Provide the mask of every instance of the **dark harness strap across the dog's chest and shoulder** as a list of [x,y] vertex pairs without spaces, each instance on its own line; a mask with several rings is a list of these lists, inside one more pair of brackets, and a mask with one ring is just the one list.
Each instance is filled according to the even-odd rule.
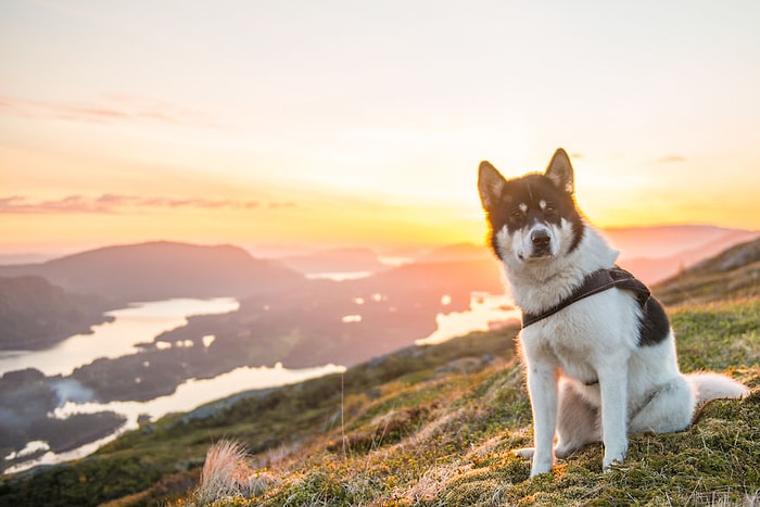
[[581,301],[590,295],[598,294],[599,292],[612,289],[613,287],[633,292],[636,295],[636,300],[638,300],[638,304],[642,306],[642,308],[651,295],[649,289],[625,269],[618,266],[610,269],[599,269],[585,277],[583,279],[583,283],[578,286],[569,296],[550,308],[545,309],[540,314],[531,314],[523,310],[522,327],[527,328],[531,324],[545,319],[566,306],[570,306],[577,301]]

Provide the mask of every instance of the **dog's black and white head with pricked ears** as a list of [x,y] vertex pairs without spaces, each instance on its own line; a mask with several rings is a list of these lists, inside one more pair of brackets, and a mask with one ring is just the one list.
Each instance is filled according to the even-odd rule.
[[481,162],[478,189],[491,226],[491,245],[505,263],[541,263],[578,246],[583,223],[573,200],[572,165],[561,148],[544,174],[514,179]]

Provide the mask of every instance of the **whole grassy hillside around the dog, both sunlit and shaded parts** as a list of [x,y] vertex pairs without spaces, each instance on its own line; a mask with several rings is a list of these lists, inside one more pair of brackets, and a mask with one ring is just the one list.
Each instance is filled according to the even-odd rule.
[[531,444],[531,415],[508,329],[410,347],[343,376],[243,397],[211,417],[166,417],[89,458],[3,479],[0,504],[190,505],[205,452],[224,439],[249,449],[248,482],[216,505],[757,502],[760,299],[671,316],[684,371],[725,371],[752,394],[708,404],[686,431],[632,435],[610,473],[593,445],[528,479],[529,464],[511,454]]

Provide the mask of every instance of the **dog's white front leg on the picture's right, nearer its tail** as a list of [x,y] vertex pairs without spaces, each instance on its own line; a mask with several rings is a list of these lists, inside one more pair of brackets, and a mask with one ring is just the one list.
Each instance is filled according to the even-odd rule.
[[615,462],[621,462],[628,452],[628,362],[610,360],[599,369],[601,390],[601,430],[605,471]]

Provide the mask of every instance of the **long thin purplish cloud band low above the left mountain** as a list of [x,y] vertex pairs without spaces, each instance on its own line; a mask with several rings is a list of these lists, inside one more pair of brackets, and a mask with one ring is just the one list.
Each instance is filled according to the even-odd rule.
[[233,201],[208,199],[141,198],[104,193],[99,197],[68,195],[58,200],[33,201],[22,195],[0,198],[0,214],[118,214],[128,208],[197,208],[197,210],[280,210],[295,207],[292,202]]

